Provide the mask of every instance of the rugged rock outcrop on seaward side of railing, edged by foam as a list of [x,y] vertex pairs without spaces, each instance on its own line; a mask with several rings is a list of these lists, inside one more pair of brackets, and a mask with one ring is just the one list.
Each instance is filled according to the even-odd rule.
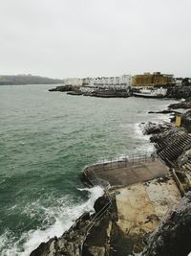
[[[74,222],[74,225],[66,231],[61,237],[54,237],[46,243],[41,243],[36,249],[34,249],[30,256],[80,256],[82,250],[84,250],[84,243],[90,230],[94,227],[94,223],[100,223],[102,220],[110,220],[111,211],[109,208],[104,208],[108,204],[109,198],[103,196],[96,200],[96,213],[90,215],[90,213],[83,214],[78,220]],[[101,209],[106,211],[101,211]],[[109,217],[107,217],[109,216]],[[101,247],[101,246],[100,246]],[[96,248],[91,248],[96,250]],[[98,251],[102,248],[97,249]],[[104,249],[104,248],[103,248]],[[96,254],[94,254],[96,255]],[[99,254],[97,254],[99,255]]]

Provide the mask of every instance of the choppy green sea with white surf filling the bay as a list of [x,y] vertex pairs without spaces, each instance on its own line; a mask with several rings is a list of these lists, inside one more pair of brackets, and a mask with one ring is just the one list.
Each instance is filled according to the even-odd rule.
[[175,101],[102,99],[49,92],[54,85],[0,86],[0,255],[28,256],[94,212],[101,187],[86,188],[87,165],[154,151],[142,123]]

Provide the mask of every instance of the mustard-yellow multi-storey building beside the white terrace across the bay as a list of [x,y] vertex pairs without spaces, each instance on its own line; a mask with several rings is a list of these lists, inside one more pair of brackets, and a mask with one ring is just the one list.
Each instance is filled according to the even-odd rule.
[[160,72],[144,73],[142,75],[136,75],[133,78],[133,86],[154,86],[164,85],[172,80],[172,75],[162,75]]

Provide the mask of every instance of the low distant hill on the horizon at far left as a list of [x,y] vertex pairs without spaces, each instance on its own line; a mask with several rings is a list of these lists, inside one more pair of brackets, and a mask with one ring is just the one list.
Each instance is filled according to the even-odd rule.
[[63,83],[63,80],[55,80],[32,75],[17,76],[1,76],[0,85],[16,85],[16,84],[56,84]]

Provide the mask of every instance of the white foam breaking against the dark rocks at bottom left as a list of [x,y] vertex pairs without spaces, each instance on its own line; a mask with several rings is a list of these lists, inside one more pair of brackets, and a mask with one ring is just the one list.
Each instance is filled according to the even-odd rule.
[[[80,205],[68,206],[63,204],[61,207],[50,207],[46,209],[45,218],[53,219],[56,216],[55,221],[45,230],[37,229],[30,230],[22,235],[19,241],[11,245],[10,249],[6,249],[2,252],[2,256],[29,256],[33,249],[35,249],[40,243],[47,242],[50,238],[57,236],[60,237],[66,230],[68,230],[84,212],[94,212],[94,205],[96,199],[104,194],[101,187],[96,186],[94,188],[78,189],[80,191],[88,191],[90,193],[89,199]],[[63,199],[60,198],[62,201]],[[65,198],[64,198],[65,200]],[[38,202],[37,202],[38,204]],[[27,208],[26,213],[29,209]],[[4,234],[2,239],[0,238],[0,247],[5,245],[8,239],[8,234]],[[21,241],[26,241],[23,244],[24,251],[21,251],[18,244]],[[2,243],[2,246],[1,246]]]

